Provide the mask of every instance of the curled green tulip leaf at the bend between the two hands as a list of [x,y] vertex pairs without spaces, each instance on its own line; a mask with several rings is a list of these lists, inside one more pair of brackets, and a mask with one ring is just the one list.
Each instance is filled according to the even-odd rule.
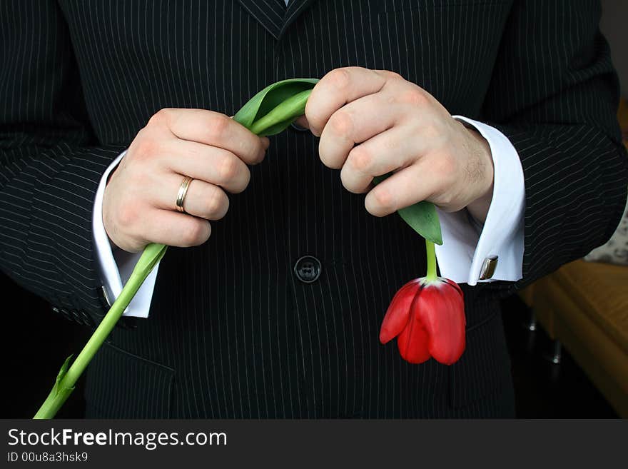
[[[293,98],[293,96],[300,94],[302,91],[313,89],[314,85],[317,83],[318,79],[289,79],[268,85],[258,94],[255,94],[255,96],[253,96],[253,98],[251,98],[244,106],[242,106],[242,109],[240,109],[240,111],[233,116],[233,119],[236,122],[241,123],[246,128],[251,128],[255,121],[258,121],[270,111],[273,111],[273,109],[281,106],[284,101]],[[307,99],[305,99],[305,101],[307,101]],[[305,108],[305,104],[303,104],[303,107]],[[294,118],[298,116],[300,116],[300,114]],[[280,121],[285,121],[287,119],[288,117],[280,119],[275,123],[279,123]],[[291,122],[292,121],[288,122],[285,127],[290,125]],[[266,135],[272,134],[273,133],[266,133]]]

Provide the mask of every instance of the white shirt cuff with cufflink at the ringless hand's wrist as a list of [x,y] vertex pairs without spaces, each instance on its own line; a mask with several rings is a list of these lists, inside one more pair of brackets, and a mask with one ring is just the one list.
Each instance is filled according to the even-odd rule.
[[475,128],[488,141],[495,181],[483,227],[474,226],[466,210],[446,213],[437,208],[442,230],[442,246],[436,246],[440,273],[456,283],[475,285],[485,260],[497,256],[495,272],[485,281],[517,281],[522,278],[525,211],[525,180],[519,154],[496,128],[470,118],[453,117]]

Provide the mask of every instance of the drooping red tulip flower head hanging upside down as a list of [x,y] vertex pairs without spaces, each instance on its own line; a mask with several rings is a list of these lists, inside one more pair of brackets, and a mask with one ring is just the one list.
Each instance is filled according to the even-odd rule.
[[465,351],[465,301],[457,283],[437,277],[415,278],[397,291],[380,330],[380,342],[397,337],[410,363],[430,359],[455,363]]

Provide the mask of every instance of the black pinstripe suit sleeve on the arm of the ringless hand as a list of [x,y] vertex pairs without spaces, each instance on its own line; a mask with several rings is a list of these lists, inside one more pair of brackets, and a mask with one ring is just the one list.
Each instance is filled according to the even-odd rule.
[[619,84],[594,0],[515,0],[479,120],[515,146],[525,176],[522,279],[511,292],[612,235],[626,203]]

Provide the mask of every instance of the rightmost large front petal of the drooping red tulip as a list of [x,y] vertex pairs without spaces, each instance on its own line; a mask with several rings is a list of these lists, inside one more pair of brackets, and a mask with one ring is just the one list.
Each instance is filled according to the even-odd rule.
[[445,365],[455,363],[465,351],[465,302],[454,285],[431,283],[417,298],[417,316],[429,336],[430,355]]

